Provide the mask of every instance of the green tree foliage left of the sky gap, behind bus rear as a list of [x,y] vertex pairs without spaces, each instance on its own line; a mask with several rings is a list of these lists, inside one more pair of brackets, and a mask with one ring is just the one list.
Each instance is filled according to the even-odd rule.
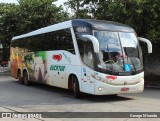
[[19,4],[0,3],[0,43],[3,44],[3,59],[9,58],[13,36],[68,20],[68,13],[56,0],[19,0]]

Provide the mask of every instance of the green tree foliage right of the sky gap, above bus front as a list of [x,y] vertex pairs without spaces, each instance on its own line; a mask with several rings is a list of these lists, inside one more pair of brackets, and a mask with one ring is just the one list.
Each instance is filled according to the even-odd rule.
[[133,27],[138,36],[160,41],[159,0],[69,0],[67,3],[75,11],[76,18],[86,17],[80,10],[87,9],[85,15],[89,17],[86,18],[124,23]]

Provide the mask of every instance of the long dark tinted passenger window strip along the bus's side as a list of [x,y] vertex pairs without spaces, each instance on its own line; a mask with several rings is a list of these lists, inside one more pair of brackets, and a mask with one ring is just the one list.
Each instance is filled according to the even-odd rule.
[[70,29],[14,40],[12,47],[25,48],[27,51],[66,50],[75,54]]

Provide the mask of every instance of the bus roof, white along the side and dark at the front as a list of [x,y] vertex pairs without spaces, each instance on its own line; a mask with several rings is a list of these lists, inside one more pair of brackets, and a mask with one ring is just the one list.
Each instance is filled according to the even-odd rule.
[[41,29],[37,29],[35,31],[19,35],[16,37],[13,37],[12,40],[30,37],[38,34],[44,34],[56,30],[71,28],[75,26],[89,26],[92,29],[95,30],[106,30],[106,31],[123,31],[123,32],[134,32],[134,30],[121,23],[112,22],[112,21],[105,21],[105,20],[94,20],[94,19],[73,19],[65,22],[61,22],[58,24],[50,25],[47,27],[43,27]]

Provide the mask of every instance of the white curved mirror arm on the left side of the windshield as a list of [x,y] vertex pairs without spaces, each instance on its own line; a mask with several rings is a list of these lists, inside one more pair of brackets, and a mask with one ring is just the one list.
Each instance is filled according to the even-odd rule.
[[92,35],[82,35],[82,37],[89,39],[93,43],[94,52],[99,53],[99,42],[97,38]]

